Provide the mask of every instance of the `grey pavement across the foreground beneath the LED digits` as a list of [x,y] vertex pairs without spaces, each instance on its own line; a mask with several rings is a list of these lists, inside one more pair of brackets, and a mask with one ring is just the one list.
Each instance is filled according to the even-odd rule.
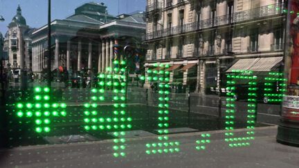
[[[228,147],[224,131],[175,134],[165,142],[179,142],[178,150],[155,154],[146,153],[146,144],[158,143],[157,136],[128,138],[125,157],[118,158],[113,156],[113,140],[18,147],[0,151],[0,167],[298,167],[299,148],[275,142],[276,130],[256,129],[255,140],[247,147]],[[235,130],[235,135],[245,132]],[[196,141],[206,133],[210,143],[197,150]]]

